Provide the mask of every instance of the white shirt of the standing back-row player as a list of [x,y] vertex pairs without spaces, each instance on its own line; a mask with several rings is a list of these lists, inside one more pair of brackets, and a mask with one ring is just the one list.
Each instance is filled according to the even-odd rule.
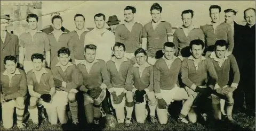
[[84,47],[89,44],[97,46],[96,59],[102,59],[108,62],[113,54],[112,47],[115,45],[115,35],[106,28],[103,30],[94,28],[88,32],[84,38]]

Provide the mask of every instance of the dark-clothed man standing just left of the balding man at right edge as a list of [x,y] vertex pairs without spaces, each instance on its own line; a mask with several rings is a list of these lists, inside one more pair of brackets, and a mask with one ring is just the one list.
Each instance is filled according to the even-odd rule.
[[[234,33],[234,49],[233,49],[233,55],[235,56],[237,60],[237,64],[239,69],[242,68],[242,57],[241,55],[241,46],[243,44],[242,42],[242,30],[243,30],[243,25],[237,24],[234,19],[236,16],[237,11],[228,8],[227,10],[224,11],[225,13],[225,22],[228,23],[231,26],[231,29]],[[230,77],[234,77],[233,73],[230,72]],[[230,82],[232,83],[233,78],[229,78]],[[241,83],[238,84],[237,90],[234,91],[234,113],[239,110],[239,111],[244,111],[243,105],[244,105],[244,94],[243,94],[243,85]],[[222,103],[222,108],[224,108],[224,104]]]

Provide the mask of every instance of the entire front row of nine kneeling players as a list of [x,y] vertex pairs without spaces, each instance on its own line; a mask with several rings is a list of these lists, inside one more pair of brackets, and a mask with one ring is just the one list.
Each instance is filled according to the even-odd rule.
[[[147,53],[142,48],[135,51],[137,63],[124,57],[125,46],[116,42],[113,47],[114,57],[107,63],[95,59],[97,47],[85,46],[85,60],[77,66],[70,60],[69,49],[63,47],[58,51],[59,63],[50,69],[43,67],[43,55],[33,54],[31,60],[34,69],[27,73],[16,68],[16,59],[6,56],[6,70],[1,73],[1,103],[3,108],[3,125],[13,125],[13,109],[16,107],[17,126],[25,127],[22,116],[25,108],[27,86],[30,103],[28,111],[38,128],[37,105],[43,105],[52,125],[67,123],[66,105],[69,103],[73,124],[78,124],[77,100],[78,90],[83,92],[84,109],[87,123],[94,126],[100,124],[100,108],[106,91],[110,92],[111,103],[116,112],[118,123],[131,125],[133,107],[138,123],[144,123],[149,115],[152,123],[167,123],[167,106],[173,101],[183,100],[178,121],[195,123],[201,114],[207,120],[209,114],[208,98],[211,98],[214,117],[221,119],[220,98],[227,100],[227,119],[232,118],[233,91],[239,82],[239,69],[233,55],[227,54],[228,44],[225,40],[215,43],[215,52],[209,58],[202,56],[204,42],[190,42],[191,56],[176,57],[172,42],[164,43],[163,57],[155,65],[147,63]],[[229,86],[230,67],[234,74],[233,83]],[[182,87],[181,81],[185,87]],[[78,89],[78,90],[77,90]],[[106,90],[107,89],[107,90]],[[135,103],[135,106],[134,106]],[[126,109],[126,117],[125,117]],[[155,116],[157,112],[157,118]],[[188,116],[188,119],[186,117]]]

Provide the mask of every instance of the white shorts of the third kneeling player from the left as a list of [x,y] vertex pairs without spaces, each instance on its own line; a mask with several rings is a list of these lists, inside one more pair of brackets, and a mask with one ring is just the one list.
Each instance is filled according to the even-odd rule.
[[52,105],[55,107],[66,106],[68,104],[68,92],[66,91],[56,91],[54,97],[52,98]]

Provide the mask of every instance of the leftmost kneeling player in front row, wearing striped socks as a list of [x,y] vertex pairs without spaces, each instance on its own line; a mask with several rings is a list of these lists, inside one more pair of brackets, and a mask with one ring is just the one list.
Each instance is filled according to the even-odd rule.
[[24,71],[17,66],[17,59],[14,56],[4,58],[5,71],[1,72],[1,103],[3,126],[6,129],[13,126],[13,112],[16,107],[17,127],[25,128],[22,123],[27,92],[27,77]]

